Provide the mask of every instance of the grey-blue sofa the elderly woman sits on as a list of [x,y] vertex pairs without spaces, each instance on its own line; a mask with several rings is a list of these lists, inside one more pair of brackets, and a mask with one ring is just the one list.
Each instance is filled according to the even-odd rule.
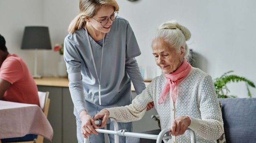
[[[227,143],[256,143],[256,98],[219,99]],[[161,130],[143,132],[159,134]],[[126,143],[155,143],[156,140],[127,137]]]

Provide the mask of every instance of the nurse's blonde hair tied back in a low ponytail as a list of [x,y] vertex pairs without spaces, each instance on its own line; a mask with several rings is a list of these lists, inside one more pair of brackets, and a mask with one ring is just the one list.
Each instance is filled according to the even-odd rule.
[[119,11],[119,6],[115,0],[80,0],[79,14],[71,21],[68,32],[74,33],[86,24],[86,18],[92,18],[98,9],[103,6],[113,6],[115,11]]

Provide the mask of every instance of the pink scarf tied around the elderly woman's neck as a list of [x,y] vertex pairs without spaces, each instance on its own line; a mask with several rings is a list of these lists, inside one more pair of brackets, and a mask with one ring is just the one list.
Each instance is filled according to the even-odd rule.
[[167,80],[164,89],[158,99],[158,104],[164,103],[165,96],[168,91],[171,89],[171,97],[173,98],[173,102],[175,103],[177,98],[177,85],[187,76],[187,74],[191,70],[191,65],[185,59],[181,66],[174,73],[165,74],[165,78]]

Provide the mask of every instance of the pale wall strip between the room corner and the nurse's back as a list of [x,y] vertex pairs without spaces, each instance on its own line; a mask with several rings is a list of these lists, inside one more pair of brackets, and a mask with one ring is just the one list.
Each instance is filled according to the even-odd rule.
[[[79,0],[44,0],[44,24],[49,26],[52,45],[64,43],[68,26],[79,12]],[[45,51],[45,76],[58,75],[58,61],[63,60],[58,52]]]

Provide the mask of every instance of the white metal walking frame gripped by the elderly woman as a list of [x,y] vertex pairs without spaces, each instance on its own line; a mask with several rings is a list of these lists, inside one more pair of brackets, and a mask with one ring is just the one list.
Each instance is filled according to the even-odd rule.
[[[101,120],[98,119],[94,121],[96,125],[101,124]],[[151,135],[151,134],[142,134],[136,132],[127,132],[127,130],[118,130],[118,124],[114,118],[109,118],[106,122],[107,124],[113,123],[114,124],[114,131],[112,130],[105,130],[105,129],[95,129],[99,133],[104,134],[112,134],[115,135],[115,143],[119,143],[118,136],[126,136],[126,137],[138,137],[138,138],[147,138],[147,139],[156,139],[156,143],[162,143],[163,139],[171,139],[169,136],[170,128],[162,130],[158,135]],[[191,143],[196,143],[196,135],[193,130],[188,128],[191,135]],[[84,143],[88,143],[89,139],[85,138]]]

